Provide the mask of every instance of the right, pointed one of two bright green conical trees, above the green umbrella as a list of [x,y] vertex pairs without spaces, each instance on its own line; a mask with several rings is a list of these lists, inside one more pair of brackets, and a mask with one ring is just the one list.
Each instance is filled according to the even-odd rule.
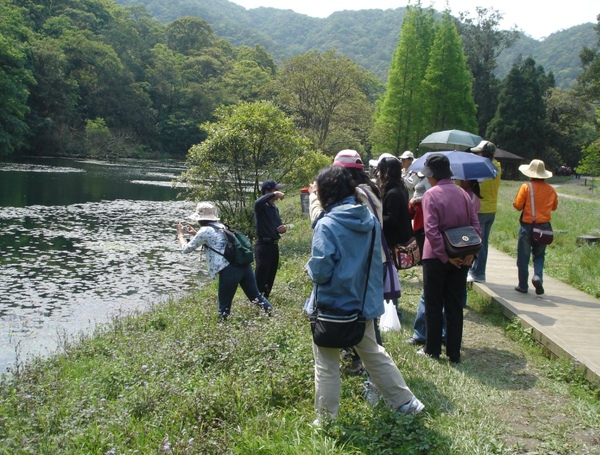
[[445,11],[436,27],[429,65],[423,82],[424,126],[429,131],[476,131],[471,73],[450,13]]

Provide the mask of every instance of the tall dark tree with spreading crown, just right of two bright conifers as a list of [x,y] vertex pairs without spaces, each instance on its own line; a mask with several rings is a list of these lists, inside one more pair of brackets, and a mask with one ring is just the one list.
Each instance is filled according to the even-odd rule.
[[503,15],[494,8],[476,8],[477,17],[462,12],[457,21],[463,50],[474,78],[473,99],[477,105],[478,134],[485,130],[496,113],[500,81],[494,75],[498,56],[519,38],[514,30],[498,30]]

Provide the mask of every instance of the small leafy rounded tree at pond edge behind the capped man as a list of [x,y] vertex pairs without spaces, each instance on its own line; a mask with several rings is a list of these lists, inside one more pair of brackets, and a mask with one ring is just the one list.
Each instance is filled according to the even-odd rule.
[[216,121],[201,128],[206,140],[188,152],[181,181],[193,200],[212,200],[223,218],[252,231],[259,183],[284,180],[308,151],[294,122],[271,102],[241,102],[215,112]]

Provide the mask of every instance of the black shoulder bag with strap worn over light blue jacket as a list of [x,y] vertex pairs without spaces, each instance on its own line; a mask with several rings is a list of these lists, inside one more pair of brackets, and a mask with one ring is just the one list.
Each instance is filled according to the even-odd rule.
[[362,306],[359,311],[352,313],[342,313],[332,310],[327,312],[319,309],[319,287],[316,286],[316,311],[310,316],[310,328],[313,335],[313,342],[322,348],[346,348],[354,346],[361,342],[365,334],[366,319],[362,315],[369,284],[369,274],[371,273],[371,259],[373,257],[373,246],[375,244],[375,228],[371,236],[371,247],[368,255],[367,277],[365,280],[365,290],[363,293]]

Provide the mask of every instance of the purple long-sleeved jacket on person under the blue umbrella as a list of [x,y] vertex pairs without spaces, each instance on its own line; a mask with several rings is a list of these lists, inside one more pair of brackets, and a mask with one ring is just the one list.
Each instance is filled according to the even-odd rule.
[[439,259],[448,262],[442,232],[458,226],[471,225],[481,235],[477,213],[471,198],[452,179],[440,180],[423,194],[423,221],[425,245],[423,259]]

